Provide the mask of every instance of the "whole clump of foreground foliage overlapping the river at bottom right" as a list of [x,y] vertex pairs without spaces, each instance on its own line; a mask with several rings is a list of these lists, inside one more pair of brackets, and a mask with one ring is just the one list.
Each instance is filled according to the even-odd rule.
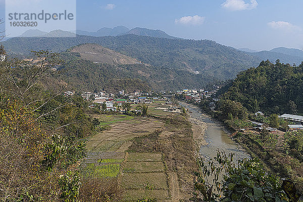
[[257,159],[239,160],[218,151],[214,159],[198,161],[193,201],[289,201],[280,178],[267,173]]

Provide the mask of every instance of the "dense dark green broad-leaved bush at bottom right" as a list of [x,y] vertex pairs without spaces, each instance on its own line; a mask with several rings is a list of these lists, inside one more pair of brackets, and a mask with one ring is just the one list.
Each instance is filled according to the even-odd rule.
[[266,173],[257,159],[240,161],[224,181],[221,201],[288,201],[279,177]]

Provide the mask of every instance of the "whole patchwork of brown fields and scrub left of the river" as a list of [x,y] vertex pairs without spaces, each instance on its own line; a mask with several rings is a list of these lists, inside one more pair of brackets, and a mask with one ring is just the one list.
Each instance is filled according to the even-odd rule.
[[148,114],[159,118],[96,115],[109,129],[87,141],[85,176],[117,178],[125,201],[189,198],[195,169],[192,131],[180,115],[159,107],[167,106],[148,106]]

